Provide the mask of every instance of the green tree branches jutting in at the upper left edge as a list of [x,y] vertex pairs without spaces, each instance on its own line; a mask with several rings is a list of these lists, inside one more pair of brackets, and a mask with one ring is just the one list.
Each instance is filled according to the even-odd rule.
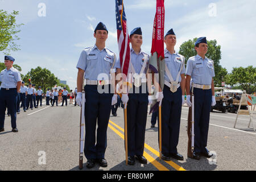
[[19,11],[8,14],[7,11],[0,10],[0,51],[9,55],[10,51],[18,51],[19,46],[15,43],[19,40],[16,35],[23,24],[16,24],[15,16]]

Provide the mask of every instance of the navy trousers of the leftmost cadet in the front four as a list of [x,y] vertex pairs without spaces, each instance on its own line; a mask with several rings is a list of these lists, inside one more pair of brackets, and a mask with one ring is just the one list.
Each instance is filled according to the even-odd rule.
[[[107,129],[113,93],[98,93],[97,85],[85,85],[85,145],[86,159],[105,158]],[[105,86],[99,86],[105,88]],[[108,86],[110,89],[110,85]],[[97,139],[96,139],[96,124]],[[96,143],[97,140],[97,143]]]

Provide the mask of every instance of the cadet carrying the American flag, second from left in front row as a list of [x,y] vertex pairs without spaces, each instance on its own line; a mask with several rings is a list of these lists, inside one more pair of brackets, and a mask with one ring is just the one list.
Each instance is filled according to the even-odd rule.
[[[150,56],[141,50],[143,42],[141,27],[134,28],[131,31],[130,42],[132,46],[131,71],[133,76],[136,74],[143,75],[141,81],[136,81],[134,78],[133,88],[129,90],[129,101],[127,102],[128,164],[134,165],[135,159],[138,159],[142,164],[147,163],[147,159],[143,156],[148,109],[148,92],[145,78],[149,68]],[[119,60],[118,68],[121,68]],[[127,101],[123,99],[125,97],[127,97],[127,94],[123,94],[122,97],[124,104]]]

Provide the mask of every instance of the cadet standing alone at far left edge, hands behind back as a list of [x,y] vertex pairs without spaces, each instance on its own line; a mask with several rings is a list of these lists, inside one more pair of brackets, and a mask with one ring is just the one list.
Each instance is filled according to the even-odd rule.
[[5,111],[6,107],[11,114],[11,127],[13,132],[18,132],[16,128],[16,108],[17,96],[20,90],[21,78],[20,73],[13,67],[15,59],[11,56],[5,56],[5,66],[0,74],[0,132],[5,131]]

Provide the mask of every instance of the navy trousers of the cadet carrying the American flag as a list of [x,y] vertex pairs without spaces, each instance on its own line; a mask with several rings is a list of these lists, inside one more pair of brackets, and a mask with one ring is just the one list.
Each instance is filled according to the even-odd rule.
[[[136,90],[135,86],[133,87]],[[129,93],[127,103],[128,156],[143,155],[147,122],[148,93]]]

